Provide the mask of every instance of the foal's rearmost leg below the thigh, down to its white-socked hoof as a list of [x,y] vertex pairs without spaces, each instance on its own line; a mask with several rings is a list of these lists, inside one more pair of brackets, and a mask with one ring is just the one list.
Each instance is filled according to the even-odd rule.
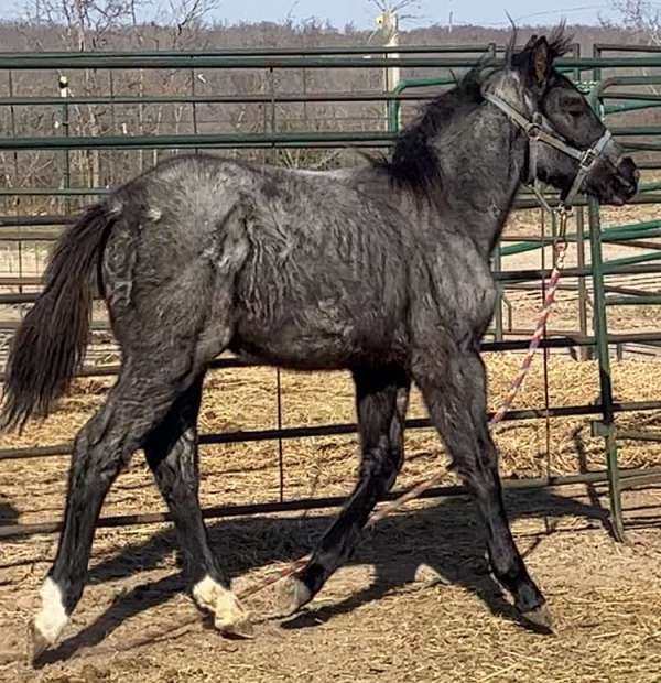
[[124,359],[106,403],[76,436],[57,554],[32,625],[33,659],[57,640],[83,594],[106,494],[131,454],[170,410],[181,390],[170,380],[155,361]]

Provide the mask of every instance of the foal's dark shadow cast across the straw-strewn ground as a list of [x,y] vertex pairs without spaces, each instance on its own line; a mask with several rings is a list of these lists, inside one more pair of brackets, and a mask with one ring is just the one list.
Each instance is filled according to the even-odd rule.
[[[599,507],[539,489],[506,496],[510,519],[584,517],[606,525],[607,513]],[[213,548],[232,576],[249,570],[286,562],[312,550],[330,523],[330,516],[306,519],[241,518],[209,525]],[[172,529],[154,534],[145,543],[131,544],[118,555],[94,566],[90,584],[105,583],[152,570],[176,549]],[[224,549],[223,554],[219,549]],[[228,549],[228,550],[225,550]],[[518,620],[513,607],[503,599],[484,559],[481,529],[474,506],[466,498],[440,499],[423,510],[383,520],[359,545],[351,564],[375,568],[371,585],[332,605],[314,603],[300,615],[284,621],[288,629],[306,628],[347,614],[366,603],[378,600],[393,589],[415,582],[425,564],[442,582],[460,585],[477,595],[497,615]],[[57,649],[42,657],[41,664],[68,659],[80,648],[99,643],[122,622],[145,609],[161,605],[186,587],[181,573],[134,587],[116,598],[97,620]],[[323,595],[323,593],[321,594]]]

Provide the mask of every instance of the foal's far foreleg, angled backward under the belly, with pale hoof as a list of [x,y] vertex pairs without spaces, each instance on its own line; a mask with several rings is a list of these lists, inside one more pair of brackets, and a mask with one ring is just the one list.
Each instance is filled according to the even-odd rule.
[[310,601],[354,552],[376,503],[394,484],[403,462],[409,378],[399,367],[354,371],[361,463],[358,483],[311,560],[281,587],[281,609],[291,614]]

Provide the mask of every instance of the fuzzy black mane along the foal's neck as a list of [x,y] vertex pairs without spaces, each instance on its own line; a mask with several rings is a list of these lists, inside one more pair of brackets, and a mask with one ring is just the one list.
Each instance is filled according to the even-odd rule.
[[416,119],[398,135],[391,159],[373,163],[388,172],[399,187],[426,195],[441,182],[436,150],[431,141],[459,111],[468,113],[483,101],[480,86],[488,73],[484,62],[472,68],[457,85],[426,104]]

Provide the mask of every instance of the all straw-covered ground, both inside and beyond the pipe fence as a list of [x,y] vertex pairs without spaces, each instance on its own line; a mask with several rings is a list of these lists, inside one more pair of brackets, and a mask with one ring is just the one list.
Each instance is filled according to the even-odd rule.
[[[490,356],[490,403],[498,404],[520,358]],[[517,406],[543,404],[543,364]],[[661,364],[614,365],[619,400],[658,394]],[[552,357],[551,401],[597,397],[592,362]],[[345,373],[283,373],[289,424],[353,419]],[[104,398],[100,381],[79,382],[51,419],[0,445],[47,445],[71,438]],[[204,432],[274,424],[274,370],[214,373],[201,424]],[[411,415],[424,414],[414,395]],[[660,414],[627,415],[622,426],[654,426]],[[505,474],[519,476],[603,467],[599,440],[585,418],[502,424],[496,430]],[[550,445],[549,454],[546,447]],[[346,494],[356,467],[355,437],[284,443],[285,497]],[[408,435],[401,485],[445,462],[430,431]],[[661,464],[661,446],[624,444],[622,466]],[[278,453],[271,442],[203,449],[204,505],[257,502],[278,496]],[[66,458],[4,462],[3,521],[57,519]],[[453,481],[452,475],[447,481]],[[524,629],[486,572],[480,528],[462,499],[415,503],[383,521],[301,616],[266,620],[271,588],[248,600],[258,621],[253,641],[225,640],[183,593],[169,525],[99,530],[90,585],[64,642],[43,668],[23,659],[24,629],[55,550],[54,536],[2,543],[0,680],[52,683],[99,681],[659,681],[661,672],[661,490],[625,495],[629,541],[608,532],[603,487],[572,487],[508,496],[521,550],[543,587],[556,631]],[[161,510],[137,454],[113,487],[105,514]],[[311,549],[332,511],[210,522],[212,540],[241,590]]]

